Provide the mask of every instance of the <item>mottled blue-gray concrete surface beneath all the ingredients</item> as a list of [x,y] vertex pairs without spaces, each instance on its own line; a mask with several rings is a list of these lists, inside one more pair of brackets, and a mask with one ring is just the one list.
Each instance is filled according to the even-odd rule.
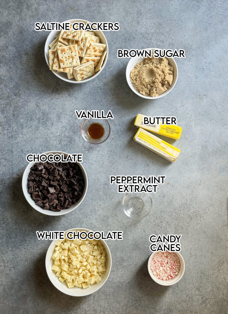
[[[1,313],[225,314],[228,306],[227,229],[227,2],[211,1],[5,1],[1,23]],[[48,69],[36,21],[118,21],[106,32],[109,57],[87,84],[59,80]],[[175,88],[144,100],[127,85],[127,59],[117,48],[185,49],[177,60]],[[80,135],[75,109],[112,110],[111,136],[92,146]],[[137,113],[173,115],[183,127],[169,164],[132,138]],[[168,140],[169,141],[169,140]],[[171,140],[169,143],[173,143]],[[47,217],[23,197],[21,179],[28,153],[83,153],[89,187],[80,208]],[[122,211],[122,195],[110,175],[166,175],[153,195],[153,211],[139,222]],[[50,241],[36,230],[123,230],[107,241],[112,270],[95,294],[74,298],[49,281],[44,259]],[[148,237],[182,234],[184,277],[155,284],[147,271]]]

